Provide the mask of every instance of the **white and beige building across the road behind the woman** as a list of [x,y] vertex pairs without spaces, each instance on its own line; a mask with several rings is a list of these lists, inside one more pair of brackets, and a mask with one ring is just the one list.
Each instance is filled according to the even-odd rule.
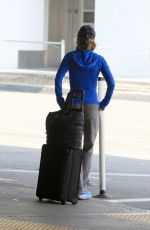
[[117,76],[150,79],[149,9],[149,0],[0,0],[0,69],[57,68],[91,24]]

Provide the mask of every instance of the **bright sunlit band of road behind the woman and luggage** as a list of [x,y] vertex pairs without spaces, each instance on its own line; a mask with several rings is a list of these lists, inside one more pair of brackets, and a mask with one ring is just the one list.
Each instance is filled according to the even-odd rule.
[[[45,141],[45,117],[59,109],[55,95],[1,91],[0,104],[1,143],[40,148]],[[149,117],[149,102],[114,98],[105,111],[106,152],[150,159]],[[97,136],[94,153],[98,151]]]

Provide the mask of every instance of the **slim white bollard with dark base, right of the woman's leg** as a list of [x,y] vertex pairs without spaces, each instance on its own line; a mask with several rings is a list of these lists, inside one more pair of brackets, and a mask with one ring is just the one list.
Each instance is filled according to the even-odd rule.
[[[103,77],[98,78],[98,99],[104,97]],[[106,194],[106,172],[105,172],[105,112],[99,112],[99,194],[95,198],[110,198]]]

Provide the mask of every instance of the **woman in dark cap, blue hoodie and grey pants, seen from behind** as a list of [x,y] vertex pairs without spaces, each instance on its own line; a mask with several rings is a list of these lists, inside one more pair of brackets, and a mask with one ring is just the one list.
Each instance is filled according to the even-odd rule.
[[[115,87],[114,78],[105,59],[94,53],[96,47],[95,31],[90,25],[84,25],[77,34],[77,47],[75,51],[68,52],[58,69],[55,78],[55,93],[60,108],[64,106],[62,95],[62,80],[69,71],[70,89],[82,89],[84,91],[84,143],[83,163],[79,186],[79,199],[87,200],[92,197],[90,191],[85,189],[88,181],[93,147],[98,132],[99,110],[104,110],[109,104]],[[102,101],[97,99],[97,81],[102,73],[107,82],[107,90]]]

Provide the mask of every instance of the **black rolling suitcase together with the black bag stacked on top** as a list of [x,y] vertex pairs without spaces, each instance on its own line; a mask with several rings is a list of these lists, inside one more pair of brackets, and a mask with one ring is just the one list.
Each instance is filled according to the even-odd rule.
[[[73,100],[79,99],[78,106]],[[46,118],[46,144],[42,146],[36,195],[39,199],[76,204],[82,162],[84,116],[83,92],[68,94],[63,111],[50,112]]]

